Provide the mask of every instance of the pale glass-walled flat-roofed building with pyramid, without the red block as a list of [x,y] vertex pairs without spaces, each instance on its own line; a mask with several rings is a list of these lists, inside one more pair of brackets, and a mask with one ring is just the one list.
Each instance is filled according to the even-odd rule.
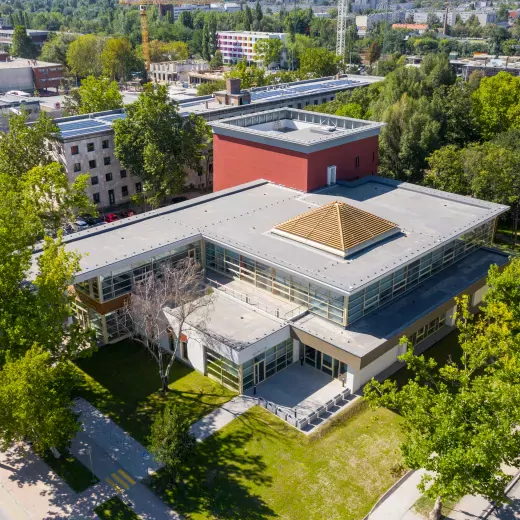
[[190,316],[181,361],[239,392],[289,367],[354,392],[395,369],[401,336],[423,350],[452,331],[456,297],[479,305],[508,262],[492,249],[507,209],[378,176],[314,192],[254,181],[65,237],[82,255],[76,319],[119,341],[136,281],[191,256],[215,300],[204,330]]

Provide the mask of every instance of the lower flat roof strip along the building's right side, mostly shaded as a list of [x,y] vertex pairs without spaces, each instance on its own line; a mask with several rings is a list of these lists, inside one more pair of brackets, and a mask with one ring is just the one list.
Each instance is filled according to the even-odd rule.
[[346,329],[319,316],[308,314],[291,325],[363,358],[412,323],[448,302],[487,275],[493,264],[504,265],[507,255],[477,249],[467,257],[421,283],[408,294],[392,300]]

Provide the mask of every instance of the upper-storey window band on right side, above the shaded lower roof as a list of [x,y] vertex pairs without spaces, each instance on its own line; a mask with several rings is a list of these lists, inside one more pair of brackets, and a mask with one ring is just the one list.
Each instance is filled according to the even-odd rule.
[[350,324],[393,300],[481,246],[491,245],[495,223],[487,222],[443,247],[401,267],[348,299]]

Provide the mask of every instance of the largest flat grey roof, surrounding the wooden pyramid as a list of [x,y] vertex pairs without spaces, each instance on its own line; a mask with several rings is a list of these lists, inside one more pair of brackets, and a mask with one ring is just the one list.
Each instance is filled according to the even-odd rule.
[[[346,259],[271,232],[333,201],[389,220],[403,232]],[[315,193],[255,181],[81,231],[64,242],[67,250],[84,255],[78,281],[204,237],[350,294],[507,209],[375,176]]]

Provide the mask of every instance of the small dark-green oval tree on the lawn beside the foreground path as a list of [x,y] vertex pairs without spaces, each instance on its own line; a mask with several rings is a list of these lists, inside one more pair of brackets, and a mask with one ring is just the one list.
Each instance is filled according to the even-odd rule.
[[174,483],[197,442],[190,433],[190,426],[189,418],[181,415],[171,402],[155,417],[152,424],[150,451],[164,464]]

